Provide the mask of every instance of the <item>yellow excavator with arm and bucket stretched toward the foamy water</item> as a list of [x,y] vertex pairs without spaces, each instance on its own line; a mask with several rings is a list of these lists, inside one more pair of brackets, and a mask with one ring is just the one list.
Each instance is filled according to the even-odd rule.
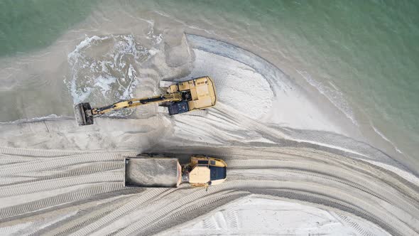
[[122,100],[104,107],[91,107],[89,102],[75,105],[75,117],[80,126],[93,124],[94,117],[118,109],[142,106],[150,103],[165,103],[170,115],[213,107],[217,102],[214,82],[208,76],[170,85],[163,95]]

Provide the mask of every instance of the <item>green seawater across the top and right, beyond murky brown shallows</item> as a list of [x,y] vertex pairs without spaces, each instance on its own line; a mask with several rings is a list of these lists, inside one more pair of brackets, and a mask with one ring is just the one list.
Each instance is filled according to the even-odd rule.
[[355,116],[401,151],[419,145],[419,1],[5,0],[0,56],[45,48],[106,4],[205,22],[230,42],[286,58],[284,65],[337,87]]

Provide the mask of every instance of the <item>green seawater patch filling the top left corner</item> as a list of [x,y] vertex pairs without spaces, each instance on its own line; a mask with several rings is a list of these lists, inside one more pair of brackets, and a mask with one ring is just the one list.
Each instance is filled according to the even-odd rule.
[[85,0],[1,0],[0,56],[50,45],[84,20],[94,4]]

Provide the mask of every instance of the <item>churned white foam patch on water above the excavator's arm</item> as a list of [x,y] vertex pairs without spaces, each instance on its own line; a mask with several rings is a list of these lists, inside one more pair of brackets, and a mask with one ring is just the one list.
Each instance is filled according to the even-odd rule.
[[[155,38],[158,42],[158,37]],[[89,49],[94,47],[109,48],[106,48],[104,55],[89,55]],[[132,35],[85,38],[68,55],[72,79],[65,82],[73,102],[77,104],[88,98],[107,99],[111,102],[132,97],[138,85],[137,67],[149,58],[151,53],[136,43]],[[102,97],[97,97],[97,92],[100,92]]]

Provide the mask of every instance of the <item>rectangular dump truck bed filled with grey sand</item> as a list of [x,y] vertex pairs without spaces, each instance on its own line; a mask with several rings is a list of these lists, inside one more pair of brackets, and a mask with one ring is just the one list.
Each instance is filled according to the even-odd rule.
[[126,157],[125,186],[144,188],[176,188],[181,182],[178,159]]

